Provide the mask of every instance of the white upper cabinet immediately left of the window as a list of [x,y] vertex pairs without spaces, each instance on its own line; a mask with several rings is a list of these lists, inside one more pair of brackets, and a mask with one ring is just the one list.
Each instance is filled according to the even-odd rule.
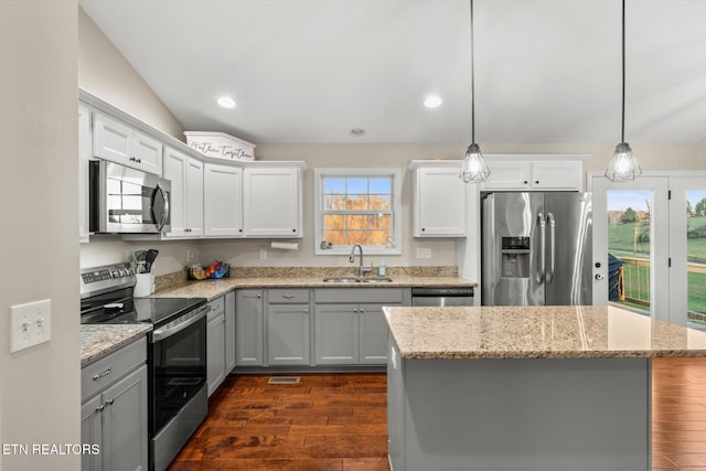
[[301,237],[299,168],[246,168],[243,223],[246,237]]

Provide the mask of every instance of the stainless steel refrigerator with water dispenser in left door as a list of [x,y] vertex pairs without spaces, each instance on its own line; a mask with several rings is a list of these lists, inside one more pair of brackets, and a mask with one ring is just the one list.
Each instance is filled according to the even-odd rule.
[[483,306],[591,304],[590,193],[486,193],[481,217]]

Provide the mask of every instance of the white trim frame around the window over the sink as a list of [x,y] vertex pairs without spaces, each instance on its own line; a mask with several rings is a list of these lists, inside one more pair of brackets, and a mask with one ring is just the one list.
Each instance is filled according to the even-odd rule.
[[313,205],[314,205],[314,255],[349,255],[352,246],[340,245],[332,248],[321,248],[321,203],[322,185],[321,180],[323,176],[392,176],[393,178],[393,234],[394,246],[392,247],[363,247],[365,255],[402,255],[402,171],[399,169],[392,168],[332,168],[332,169],[314,169],[314,183],[313,183]]

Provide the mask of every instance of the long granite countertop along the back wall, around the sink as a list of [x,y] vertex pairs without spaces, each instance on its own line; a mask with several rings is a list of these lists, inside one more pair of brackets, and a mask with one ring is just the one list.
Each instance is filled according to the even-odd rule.
[[[240,288],[409,288],[409,287],[475,287],[477,282],[461,277],[393,276],[391,282],[323,281],[324,277],[254,277],[222,278],[218,280],[189,281],[156,291],[158,298],[207,298],[210,301],[233,289]],[[354,277],[352,277],[354,278]],[[374,277],[368,277],[374,278]]]

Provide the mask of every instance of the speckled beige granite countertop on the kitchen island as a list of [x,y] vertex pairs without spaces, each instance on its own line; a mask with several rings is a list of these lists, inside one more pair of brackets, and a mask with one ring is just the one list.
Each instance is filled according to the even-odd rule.
[[706,357],[706,332],[613,307],[384,308],[403,358]]

